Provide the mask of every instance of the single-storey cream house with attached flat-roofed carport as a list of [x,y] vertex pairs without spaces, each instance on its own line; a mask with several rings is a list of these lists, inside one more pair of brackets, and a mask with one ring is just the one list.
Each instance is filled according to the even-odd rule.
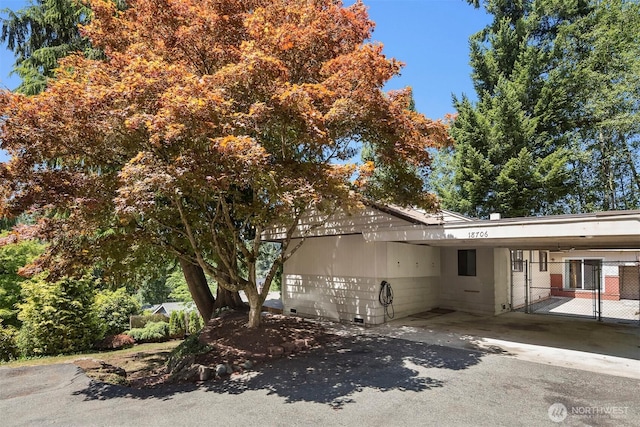
[[[582,253],[576,250],[624,249],[631,269],[640,253],[629,250],[640,247],[640,211],[471,220],[372,205],[310,226],[323,220],[309,216],[298,230],[306,241],[283,268],[285,314],[381,324],[389,320],[380,300],[384,281],[393,289],[395,318],[434,308],[496,315],[558,293],[580,294],[564,285],[578,283],[578,263],[573,282],[554,264]],[[606,292],[620,295],[627,270],[603,271]]]

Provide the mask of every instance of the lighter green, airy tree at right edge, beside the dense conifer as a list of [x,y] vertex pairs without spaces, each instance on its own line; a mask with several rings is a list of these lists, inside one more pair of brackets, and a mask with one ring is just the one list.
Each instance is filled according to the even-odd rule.
[[[578,209],[640,207],[640,4],[603,0],[558,36],[550,82],[565,89],[575,127]],[[572,113],[572,114],[571,114]]]

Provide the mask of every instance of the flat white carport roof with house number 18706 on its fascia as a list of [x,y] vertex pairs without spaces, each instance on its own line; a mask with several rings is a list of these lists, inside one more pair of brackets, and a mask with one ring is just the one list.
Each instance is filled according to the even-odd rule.
[[363,232],[367,241],[518,249],[638,249],[640,210],[413,224]]

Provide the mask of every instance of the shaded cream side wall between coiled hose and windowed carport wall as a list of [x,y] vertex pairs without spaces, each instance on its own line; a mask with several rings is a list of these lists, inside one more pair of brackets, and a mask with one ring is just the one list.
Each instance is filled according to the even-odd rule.
[[383,279],[393,288],[395,317],[406,317],[438,306],[439,248],[388,243],[386,274]]

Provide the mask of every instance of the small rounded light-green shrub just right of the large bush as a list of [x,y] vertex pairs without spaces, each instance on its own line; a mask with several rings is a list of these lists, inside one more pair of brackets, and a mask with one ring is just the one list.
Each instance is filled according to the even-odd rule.
[[140,312],[140,304],[125,288],[102,291],[96,295],[96,314],[104,327],[104,336],[129,329],[129,318]]

